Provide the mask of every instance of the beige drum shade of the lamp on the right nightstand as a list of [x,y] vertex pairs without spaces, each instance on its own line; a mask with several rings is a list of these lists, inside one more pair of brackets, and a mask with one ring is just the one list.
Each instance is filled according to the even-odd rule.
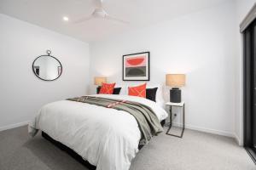
[[183,87],[185,86],[186,75],[184,74],[166,74],[166,86]]

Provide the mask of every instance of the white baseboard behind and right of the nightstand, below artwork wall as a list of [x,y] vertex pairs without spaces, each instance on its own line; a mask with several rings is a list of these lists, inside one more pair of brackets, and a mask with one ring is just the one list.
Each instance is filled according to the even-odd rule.
[[[175,123],[175,122],[172,122],[172,123],[174,126],[182,127],[182,125],[180,123]],[[227,137],[236,139],[236,135],[234,133],[230,133],[230,132],[215,130],[215,129],[211,129],[211,128],[205,128],[205,127],[197,127],[197,126],[188,125],[188,124],[185,124],[185,127],[188,129],[191,129],[191,130],[196,130],[196,131],[200,131],[200,132],[204,132],[204,133],[218,134],[221,136],[227,136]]]

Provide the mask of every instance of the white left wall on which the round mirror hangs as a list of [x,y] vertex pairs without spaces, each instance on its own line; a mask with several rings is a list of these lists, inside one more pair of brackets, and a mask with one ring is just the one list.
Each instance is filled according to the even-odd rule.
[[[88,43],[0,14],[0,44],[0,130],[31,120],[49,102],[87,94]],[[47,49],[63,66],[54,82],[32,72],[33,60]]]

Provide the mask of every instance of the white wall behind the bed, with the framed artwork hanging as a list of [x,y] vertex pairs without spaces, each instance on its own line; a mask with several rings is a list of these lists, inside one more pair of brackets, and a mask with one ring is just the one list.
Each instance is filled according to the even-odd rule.
[[[236,105],[236,3],[207,8],[91,45],[90,80],[122,82],[122,55],[151,53],[151,81],[186,73],[183,88],[189,128],[234,136]],[[140,82],[137,82],[140,83]],[[94,93],[95,89],[91,88]],[[169,95],[169,94],[167,94]]]

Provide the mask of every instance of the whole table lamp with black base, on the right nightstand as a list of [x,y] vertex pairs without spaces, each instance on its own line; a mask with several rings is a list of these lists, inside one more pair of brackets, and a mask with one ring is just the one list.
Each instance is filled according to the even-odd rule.
[[166,86],[172,87],[170,90],[170,101],[172,103],[180,103],[181,90],[180,87],[185,86],[186,75],[184,74],[166,74]]

